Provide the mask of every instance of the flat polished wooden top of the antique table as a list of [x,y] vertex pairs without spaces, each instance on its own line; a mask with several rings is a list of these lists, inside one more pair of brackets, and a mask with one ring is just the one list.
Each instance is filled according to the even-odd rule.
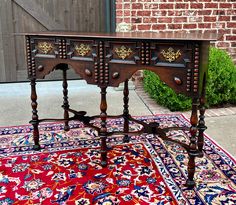
[[40,31],[23,33],[20,35],[30,36],[65,36],[77,38],[110,38],[110,39],[149,39],[149,40],[194,40],[194,41],[216,41],[222,35],[218,33],[201,32],[116,32],[116,33],[81,33],[70,31]]

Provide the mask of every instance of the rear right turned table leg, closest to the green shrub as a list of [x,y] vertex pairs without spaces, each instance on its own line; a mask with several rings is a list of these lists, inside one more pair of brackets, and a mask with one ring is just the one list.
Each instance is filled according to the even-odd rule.
[[203,157],[203,145],[204,145],[204,131],[207,129],[205,126],[205,98],[206,94],[206,79],[204,76],[204,81],[203,81],[203,87],[202,87],[202,93],[200,97],[200,106],[199,106],[199,121],[198,121],[198,150],[199,150],[199,157]]

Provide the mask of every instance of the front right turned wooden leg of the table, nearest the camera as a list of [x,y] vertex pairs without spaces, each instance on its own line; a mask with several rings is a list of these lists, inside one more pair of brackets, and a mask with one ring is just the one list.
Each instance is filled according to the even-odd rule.
[[195,173],[195,157],[198,156],[196,135],[197,135],[197,122],[198,122],[198,98],[193,98],[192,101],[192,114],[190,118],[191,128],[190,128],[190,144],[189,144],[189,161],[188,161],[188,180],[187,186],[193,188],[195,185],[194,182],[194,173]]

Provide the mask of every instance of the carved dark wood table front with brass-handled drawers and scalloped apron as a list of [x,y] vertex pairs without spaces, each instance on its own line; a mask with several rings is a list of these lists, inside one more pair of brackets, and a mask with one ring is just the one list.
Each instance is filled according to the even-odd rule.
[[88,83],[118,86],[139,69],[152,70],[176,91],[198,92],[199,47],[193,42],[28,37],[29,78],[57,64],[72,66]]

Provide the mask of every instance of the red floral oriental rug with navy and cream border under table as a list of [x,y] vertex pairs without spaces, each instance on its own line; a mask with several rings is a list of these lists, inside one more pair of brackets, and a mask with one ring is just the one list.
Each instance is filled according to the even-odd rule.
[[[162,127],[190,126],[182,115],[139,118]],[[122,123],[110,120],[108,126],[120,130]],[[188,156],[179,145],[153,135],[130,143],[109,138],[109,165],[102,168],[97,133],[78,122],[70,126],[64,132],[62,123],[41,125],[40,151],[32,150],[31,126],[0,128],[0,205],[236,204],[235,160],[207,136],[190,190],[184,186]],[[189,140],[188,132],[169,135]]]

